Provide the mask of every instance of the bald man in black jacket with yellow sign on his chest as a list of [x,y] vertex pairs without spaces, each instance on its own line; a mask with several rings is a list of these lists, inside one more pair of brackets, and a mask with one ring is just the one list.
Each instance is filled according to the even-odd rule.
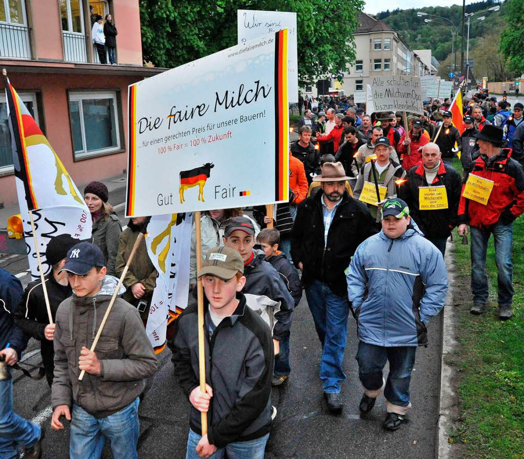
[[399,198],[408,204],[411,218],[425,238],[444,255],[447,238],[457,225],[460,174],[444,164],[439,146],[430,142],[422,148],[422,165],[413,167],[406,179],[407,183],[399,187]]

